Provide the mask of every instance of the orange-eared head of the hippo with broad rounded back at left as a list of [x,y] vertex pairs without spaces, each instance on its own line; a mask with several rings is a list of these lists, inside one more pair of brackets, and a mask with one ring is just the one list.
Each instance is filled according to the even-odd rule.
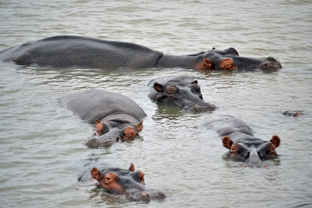
[[137,124],[131,124],[116,121],[99,121],[96,119],[96,134],[86,144],[92,147],[112,146],[115,142],[137,137],[142,128],[142,121]]

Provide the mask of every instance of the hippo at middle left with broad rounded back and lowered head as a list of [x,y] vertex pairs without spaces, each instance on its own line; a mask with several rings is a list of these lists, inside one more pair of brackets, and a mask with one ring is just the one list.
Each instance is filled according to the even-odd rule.
[[60,99],[68,110],[87,123],[96,125],[96,133],[87,146],[107,147],[134,138],[142,130],[145,112],[130,98],[113,92],[89,89]]

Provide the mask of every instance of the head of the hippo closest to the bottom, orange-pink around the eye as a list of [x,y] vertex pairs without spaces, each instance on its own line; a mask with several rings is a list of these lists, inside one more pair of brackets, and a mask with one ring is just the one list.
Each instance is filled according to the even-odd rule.
[[153,199],[163,200],[164,193],[155,192],[145,187],[144,173],[135,171],[131,163],[128,170],[121,168],[105,168],[98,171],[94,167],[90,171],[98,183],[97,187],[104,189],[107,193],[125,195],[131,201],[150,201]]

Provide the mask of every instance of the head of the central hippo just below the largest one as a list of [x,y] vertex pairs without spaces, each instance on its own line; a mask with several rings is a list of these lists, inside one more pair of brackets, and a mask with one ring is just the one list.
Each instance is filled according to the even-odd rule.
[[216,109],[215,105],[203,100],[197,80],[189,83],[171,80],[164,85],[154,83],[153,89],[157,92],[155,101],[164,105],[177,106],[193,112]]

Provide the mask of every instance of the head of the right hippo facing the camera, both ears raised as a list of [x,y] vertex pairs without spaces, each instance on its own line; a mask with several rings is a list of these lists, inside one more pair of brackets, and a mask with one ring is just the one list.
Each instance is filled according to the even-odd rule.
[[239,139],[232,141],[228,136],[223,138],[223,146],[229,149],[228,155],[232,158],[241,159],[244,167],[266,167],[263,160],[277,155],[275,148],[280,144],[281,139],[276,135],[270,141],[262,139]]

